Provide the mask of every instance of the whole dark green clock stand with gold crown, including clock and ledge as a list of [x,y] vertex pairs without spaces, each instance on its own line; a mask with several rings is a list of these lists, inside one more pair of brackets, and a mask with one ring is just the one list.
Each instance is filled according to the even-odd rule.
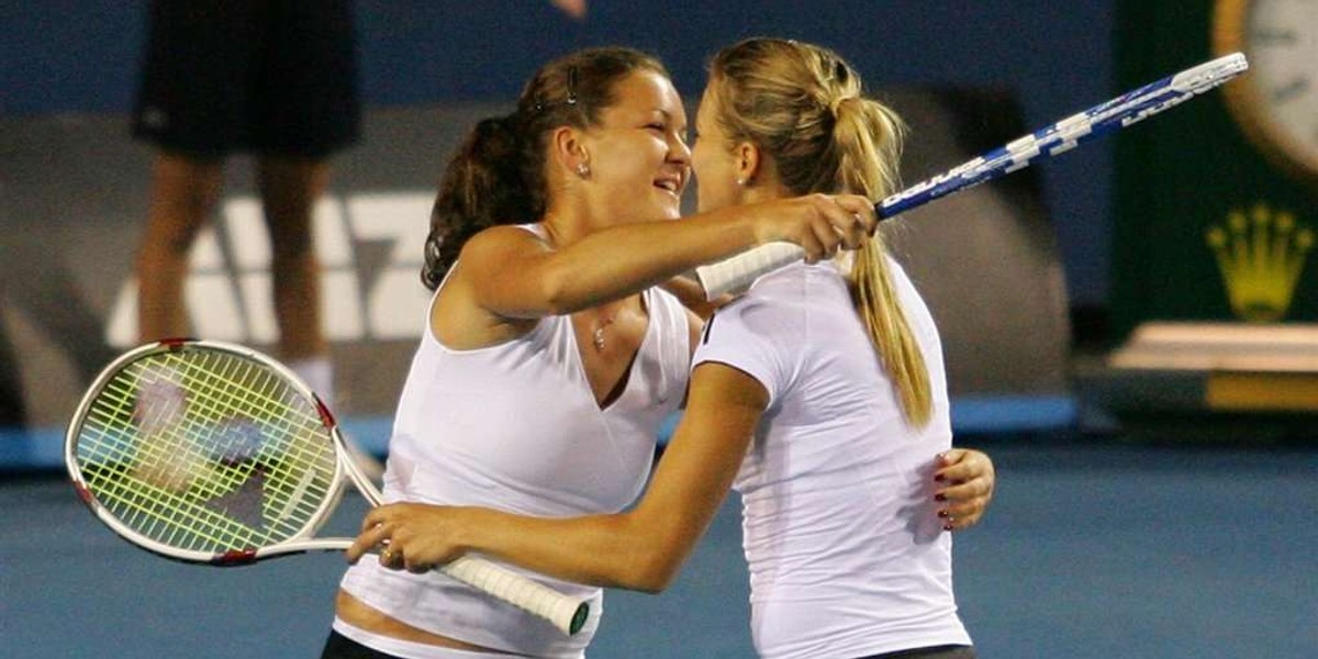
[[1318,63],[1261,7],[1118,0],[1120,84],[1223,49],[1251,65],[1118,136],[1107,364],[1130,413],[1318,411]]

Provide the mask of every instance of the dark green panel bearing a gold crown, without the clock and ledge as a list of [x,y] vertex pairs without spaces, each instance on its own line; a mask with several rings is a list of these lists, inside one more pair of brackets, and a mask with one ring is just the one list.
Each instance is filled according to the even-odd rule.
[[[1118,9],[1118,87],[1214,57],[1214,29],[1226,29],[1211,3]],[[1259,137],[1275,132],[1251,124],[1264,119],[1236,108],[1296,98],[1260,74],[1272,43],[1247,43],[1249,71],[1220,91],[1116,136],[1114,343],[1151,322],[1318,323],[1318,171],[1278,159]]]

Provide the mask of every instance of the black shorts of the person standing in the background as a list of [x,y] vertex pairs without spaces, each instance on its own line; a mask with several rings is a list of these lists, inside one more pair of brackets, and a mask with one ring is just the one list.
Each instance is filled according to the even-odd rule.
[[200,157],[357,141],[352,0],[153,0],[133,134]]

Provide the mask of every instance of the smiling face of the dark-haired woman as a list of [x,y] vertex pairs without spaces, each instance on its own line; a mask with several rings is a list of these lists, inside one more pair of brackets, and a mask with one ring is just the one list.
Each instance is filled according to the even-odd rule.
[[691,178],[681,96],[664,75],[641,70],[618,80],[613,100],[583,133],[587,194],[609,221],[677,219]]

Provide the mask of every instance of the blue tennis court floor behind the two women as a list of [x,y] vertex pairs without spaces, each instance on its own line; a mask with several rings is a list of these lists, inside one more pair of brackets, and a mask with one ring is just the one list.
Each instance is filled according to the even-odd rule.
[[[986,440],[999,492],[956,544],[983,658],[1318,656],[1318,445]],[[610,593],[592,658],[750,658],[735,496],[662,596]],[[0,656],[314,658],[341,556],[154,558],[57,473],[0,477]],[[349,498],[333,529],[361,513]]]

